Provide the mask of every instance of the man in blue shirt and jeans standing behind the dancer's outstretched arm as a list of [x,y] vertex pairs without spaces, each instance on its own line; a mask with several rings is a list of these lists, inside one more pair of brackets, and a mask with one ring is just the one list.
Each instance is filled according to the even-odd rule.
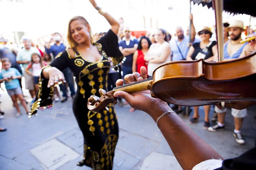
[[[50,42],[45,44],[45,51],[48,55],[52,53],[53,58],[55,58],[60,52],[64,51],[66,49],[65,45],[61,43],[61,35],[58,32],[55,32],[52,36],[52,40],[55,41],[54,45],[50,45]],[[76,94],[75,88],[74,88],[74,83],[73,83],[73,74],[70,70],[70,68],[66,68],[62,71],[64,74],[64,77],[67,81],[67,84],[70,88],[71,92],[71,97],[73,98]],[[61,84],[60,89],[62,91],[62,96],[63,99],[61,102],[66,102],[67,101],[67,91],[66,91],[66,86]],[[58,89],[55,88],[55,93],[57,94],[57,97],[55,98],[55,101],[59,101],[59,94],[58,94]]]

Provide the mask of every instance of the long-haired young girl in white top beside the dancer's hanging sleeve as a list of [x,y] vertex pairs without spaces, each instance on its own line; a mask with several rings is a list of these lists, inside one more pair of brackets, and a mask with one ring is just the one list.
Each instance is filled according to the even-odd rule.
[[[47,65],[47,62],[44,62],[43,59],[37,54],[33,53],[31,56],[31,62],[25,69],[27,74],[30,74],[34,77],[34,85],[35,85],[35,91],[38,91],[39,86],[39,77],[42,71],[42,68]],[[30,71],[32,69],[32,73]]]

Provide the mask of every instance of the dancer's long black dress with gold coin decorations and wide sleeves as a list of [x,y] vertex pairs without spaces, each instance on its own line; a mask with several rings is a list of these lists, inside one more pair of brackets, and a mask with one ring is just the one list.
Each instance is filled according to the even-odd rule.
[[[122,61],[123,55],[119,51],[117,36],[111,29],[93,45],[102,54],[102,58],[97,62],[84,59],[79,51],[73,48],[74,55],[70,55],[71,50],[66,49],[58,54],[48,67],[56,67],[60,71],[69,67],[75,75],[78,89],[73,101],[73,112],[84,135],[85,162],[93,161],[93,164],[86,165],[95,170],[111,170],[119,133],[115,110],[110,105],[109,111],[89,111],[87,99],[93,94],[100,96],[99,88],[107,89],[110,69],[108,57],[112,57],[113,64],[117,65]],[[53,87],[47,88],[47,83],[48,80],[41,75],[32,114],[35,114],[38,108],[52,105]]]

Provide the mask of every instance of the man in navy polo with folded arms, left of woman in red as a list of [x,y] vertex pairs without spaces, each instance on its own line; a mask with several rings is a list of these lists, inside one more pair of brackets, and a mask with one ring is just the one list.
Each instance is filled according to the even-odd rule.
[[119,42],[119,50],[126,57],[125,62],[122,64],[123,77],[126,74],[132,74],[133,54],[137,50],[138,40],[131,37],[131,29],[124,28],[124,38]]

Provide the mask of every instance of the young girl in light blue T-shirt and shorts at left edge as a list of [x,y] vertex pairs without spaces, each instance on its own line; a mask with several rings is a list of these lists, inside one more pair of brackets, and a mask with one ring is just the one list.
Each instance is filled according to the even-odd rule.
[[[8,58],[4,58],[1,60],[3,70],[0,73],[0,83],[5,82],[6,90],[12,98],[12,102],[17,109],[16,117],[20,116],[20,108],[17,103],[17,97],[19,98],[21,104],[25,108],[27,114],[29,110],[26,105],[26,101],[23,98],[22,90],[20,88],[20,82],[18,79],[21,79],[21,74],[16,68],[11,68],[12,64]],[[17,97],[16,97],[16,96]]]

